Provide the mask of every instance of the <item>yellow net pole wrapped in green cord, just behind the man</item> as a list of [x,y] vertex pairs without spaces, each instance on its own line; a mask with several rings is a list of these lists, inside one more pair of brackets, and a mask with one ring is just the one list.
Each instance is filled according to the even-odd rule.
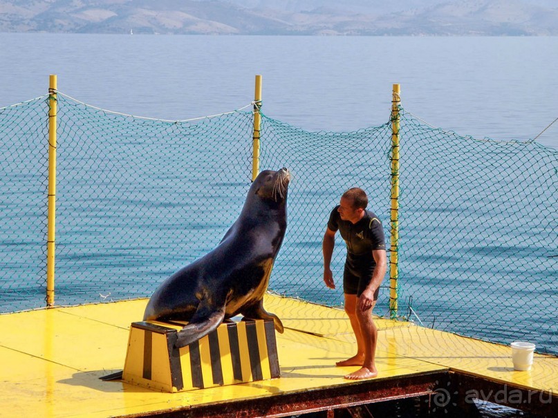
[[400,85],[393,84],[391,99],[391,246],[389,251],[389,317],[398,310],[398,241],[399,241],[399,128]]

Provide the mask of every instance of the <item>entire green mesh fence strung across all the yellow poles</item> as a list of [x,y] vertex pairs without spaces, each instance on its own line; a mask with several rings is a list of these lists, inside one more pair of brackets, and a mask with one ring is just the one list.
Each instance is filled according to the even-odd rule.
[[[558,152],[474,140],[401,113],[399,314],[558,353]],[[0,312],[44,307],[48,100],[0,109]],[[189,122],[102,111],[58,95],[57,305],[149,297],[213,249],[251,180],[252,113]],[[328,213],[369,193],[389,243],[391,122],[308,132],[262,117],[261,169],[288,167],[288,229],[270,289],[342,303],[344,244],[322,281]],[[387,314],[389,278],[377,307]]]

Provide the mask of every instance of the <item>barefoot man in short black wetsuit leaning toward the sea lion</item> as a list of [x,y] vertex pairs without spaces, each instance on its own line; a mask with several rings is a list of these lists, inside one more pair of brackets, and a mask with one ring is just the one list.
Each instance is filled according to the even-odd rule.
[[378,329],[372,321],[372,310],[386,274],[387,258],[382,222],[366,210],[367,205],[364,190],[353,187],[343,193],[340,205],[331,212],[322,243],[324,282],[331,289],[335,289],[330,264],[337,230],[347,246],[343,292],[345,312],[357,339],[357,354],[337,365],[360,365],[359,370],[345,376],[352,380],[378,375],[374,362]]

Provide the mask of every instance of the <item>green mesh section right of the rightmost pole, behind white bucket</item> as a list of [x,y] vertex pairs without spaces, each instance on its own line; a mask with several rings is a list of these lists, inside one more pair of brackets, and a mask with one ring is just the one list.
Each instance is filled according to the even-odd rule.
[[558,151],[403,113],[400,301],[422,323],[558,353]]

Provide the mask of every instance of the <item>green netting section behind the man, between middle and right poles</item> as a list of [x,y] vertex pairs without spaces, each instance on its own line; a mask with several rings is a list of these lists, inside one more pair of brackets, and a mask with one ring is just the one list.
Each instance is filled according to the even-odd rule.
[[[281,294],[326,305],[343,302],[345,245],[337,237],[332,271],[336,289],[323,282],[322,238],[329,214],[346,189],[369,195],[369,209],[382,220],[389,247],[391,123],[351,133],[303,131],[263,117],[261,167],[288,167],[293,173],[288,197],[288,229],[270,286]],[[384,282],[389,287],[389,281]],[[389,289],[378,307],[389,310]]]

